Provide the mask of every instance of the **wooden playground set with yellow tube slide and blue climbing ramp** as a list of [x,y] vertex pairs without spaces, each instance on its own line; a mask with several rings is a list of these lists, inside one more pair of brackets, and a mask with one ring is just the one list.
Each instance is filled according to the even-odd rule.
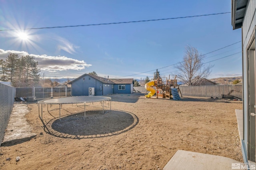
[[[166,81],[164,81],[163,78],[166,78]],[[153,88],[154,86],[156,87],[156,90]],[[159,77],[158,73],[154,72],[154,80],[146,83],[145,88],[147,92],[149,91],[148,94],[146,94],[147,92],[145,93],[146,98],[151,98],[155,93],[156,98],[161,97],[179,100],[180,95],[182,97],[176,76],[174,80],[171,80],[170,75],[169,79],[167,79],[167,77]]]

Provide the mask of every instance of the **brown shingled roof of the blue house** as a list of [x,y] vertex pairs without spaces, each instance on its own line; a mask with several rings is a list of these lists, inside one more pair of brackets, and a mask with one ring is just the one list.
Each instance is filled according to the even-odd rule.
[[92,77],[96,80],[99,80],[102,83],[106,83],[106,84],[134,84],[133,78],[122,78],[122,79],[111,78],[111,79],[108,79],[108,78],[103,78],[103,77],[99,77],[99,76],[94,76],[94,75],[91,75],[91,74],[83,74],[82,76],[72,80],[68,84],[72,84],[72,82],[78,80],[79,78],[81,78],[85,75],[90,76],[90,77]]

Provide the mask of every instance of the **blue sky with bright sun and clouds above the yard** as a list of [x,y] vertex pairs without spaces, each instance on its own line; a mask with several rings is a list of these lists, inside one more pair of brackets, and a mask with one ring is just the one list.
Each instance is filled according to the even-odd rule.
[[[230,0],[0,0],[0,59],[33,56],[44,78],[173,78],[189,45],[208,78],[242,76],[241,29],[224,12]],[[218,15],[180,18],[207,14]],[[165,18],[178,19],[31,29]]]

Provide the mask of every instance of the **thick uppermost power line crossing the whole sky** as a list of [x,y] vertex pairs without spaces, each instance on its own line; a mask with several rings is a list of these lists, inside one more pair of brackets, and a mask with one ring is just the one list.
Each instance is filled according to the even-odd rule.
[[96,23],[96,24],[87,24],[87,25],[67,25],[67,26],[56,26],[56,27],[24,28],[24,29],[0,29],[0,31],[15,31],[15,30],[27,30],[27,29],[51,29],[51,28],[66,28],[66,27],[86,27],[86,26],[111,25],[111,24],[120,24],[120,23],[136,23],[136,22],[148,22],[148,21],[160,21],[160,20],[175,20],[175,19],[182,19],[182,18],[212,16],[212,15],[229,14],[229,13],[231,13],[231,12],[221,12],[221,13],[215,13],[215,14],[204,14],[204,15],[185,16],[185,17],[176,17],[176,18],[162,18],[162,19],[155,19],[155,20],[124,21],[124,22],[111,22],[111,23]]

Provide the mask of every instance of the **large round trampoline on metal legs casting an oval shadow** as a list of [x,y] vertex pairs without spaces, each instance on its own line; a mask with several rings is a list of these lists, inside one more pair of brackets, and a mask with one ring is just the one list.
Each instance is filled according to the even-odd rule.
[[[47,105],[47,111],[52,111],[48,110],[48,105],[54,105],[58,104],[59,107],[59,118],[61,116],[61,109],[62,109],[62,104],[84,104],[84,116],[86,113],[86,103],[92,103],[92,102],[100,102],[102,106],[102,113],[104,114],[104,102],[108,101],[108,106],[110,102],[110,110],[111,110],[111,98],[110,97],[104,97],[104,96],[73,96],[73,97],[65,97],[65,98],[56,98],[56,99],[46,99],[46,100],[40,100],[38,102],[38,115],[40,117],[40,104],[41,104],[41,117],[40,119],[43,120],[43,104]],[[109,111],[110,111],[109,110]],[[105,113],[107,113],[106,111]]]

